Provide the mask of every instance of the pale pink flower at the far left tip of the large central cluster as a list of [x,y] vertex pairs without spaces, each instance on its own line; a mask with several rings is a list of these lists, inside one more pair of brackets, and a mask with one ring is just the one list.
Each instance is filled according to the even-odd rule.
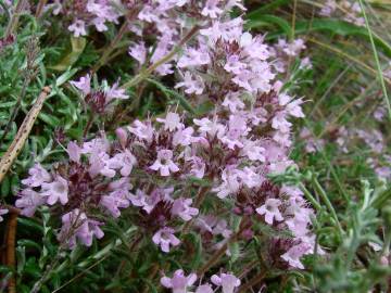
[[22,209],[22,215],[33,217],[38,206],[46,204],[47,198],[33,189],[23,189],[18,194],[15,206]]

